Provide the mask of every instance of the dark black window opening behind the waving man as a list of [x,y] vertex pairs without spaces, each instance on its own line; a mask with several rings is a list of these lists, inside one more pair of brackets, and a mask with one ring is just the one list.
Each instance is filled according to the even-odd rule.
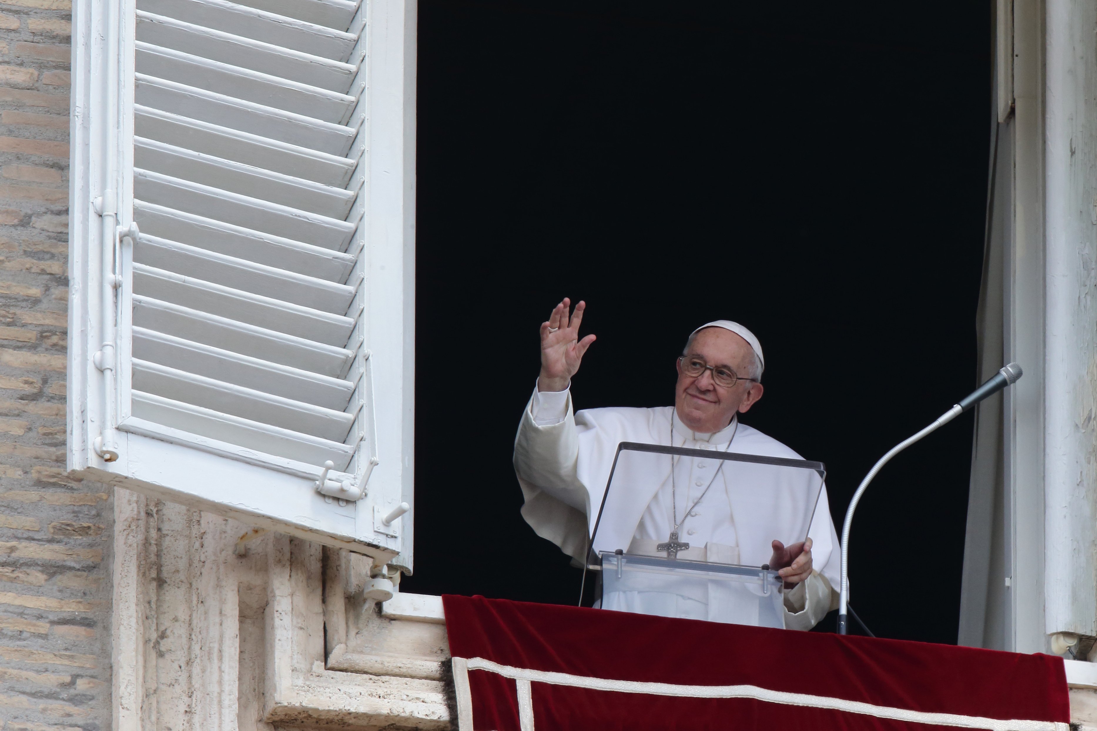
[[[402,588],[577,600],[511,468],[565,295],[598,335],[577,408],[670,404],[690,330],[750,327],[766,394],[744,423],[827,464],[840,530],[872,463],[975,385],[989,37],[986,3],[421,2]],[[859,508],[878,636],[955,642],[971,443],[969,414]]]

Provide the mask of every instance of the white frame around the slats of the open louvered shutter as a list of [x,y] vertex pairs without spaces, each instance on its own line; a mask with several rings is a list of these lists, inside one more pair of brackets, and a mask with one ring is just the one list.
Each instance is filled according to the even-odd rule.
[[[108,180],[117,191],[117,223],[124,227],[132,222],[135,0],[87,0],[73,8],[68,468],[118,487],[369,553],[410,571],[412,514],[387,526],[381,517],[402,502],[414,505],[416,3],[362,1],[363,352],[372,353],[376,451],[371,453],[378,459],[366,496],[344,505],[325,501],[315,490],[318,465],[234,449],[131,416],[129,239],[120,245],[124,281],[115,305],[117,375],[112,380],[110,371],[100,371],[93,362],[104,338],[111,339],[102,317],[102,247],[104,238],[114,245],[115,225],[111,194],[104,194]],[[111,137],[105,130],[112,131]],[[105,210],[98,206],[104,215],[97,212],[95,199],[105,200]],[[111,389],[116,392],[116,415],[104,407]],[[104,421],[115,427],[118,457],[111,462],[95,449]]]

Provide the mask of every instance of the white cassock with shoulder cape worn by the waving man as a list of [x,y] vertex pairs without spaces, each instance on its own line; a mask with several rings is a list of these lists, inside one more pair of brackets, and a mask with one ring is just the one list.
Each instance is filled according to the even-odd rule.
[[[598,518],[598,506],[601,505],[618,445],[622,441],[669,445],[671,419],[675,447],[802,459],[781,442],[738,424],[737,419],[715,434],[699,434],[678,419],[672,406],[591,408],[574,414],[569,391],[534,390],[514,439],[514,471],[525,497],[522,517],[539,536],[581,562],[588,537]],[[692,548],[679,553],[679,556],[759,565],[768,560],[768,555],[747,555],[750,549],[740,555],[739,551],[740,546],[750,546],[756,553],[758,546],[768,546],[768,540],[758,540],[759,536],[769,535],[764,525],[767,518],[751,516],[749,521],[745,521],[739,516],[739,522],[736,522],[722,475],[713,481],[717,465],[716,460],[706,464],[703,460],[682,459],[675,468],[676,483],[681,493],[678,497],[679,519],[686,507],[693,505],[712,482],[709,493],[681,526],[680,540],[689,542]],[[665,476],[667,479],[661,482],[652,482],[654,494],[637,496],[643,504],[632,506],[642,517],[629,546],[631,553],[655,553],[655,543],[666,541],[670,533],[669,458]],[[767,486],[758,487],[766,490]],[[812,511],[810,505],[787,507],[789,515],[803,516]],[[768,519],[781,522],[782,516],[770,515]],[[745,542],[748,531],[757,536]],[[771,538],[779,536],[777,525],[772,526],[772,532]],[[825,485],[808,535],[814,543],[814,570],[807,581],[784,595],[784,626],[789,629],[811,629],[832,606],[837,606],[837,592],[832,586],[838,585],[838,537],[830,519]],[[705,555],[703,547],[708,547],[709,555]],[[614,601],[621,606],[607,605],[606,608],[643,611],[643,597],[614,597]],[[682,612],[680,603],[678,616],[704,617],[703,607],[695,610],[686,608]]]

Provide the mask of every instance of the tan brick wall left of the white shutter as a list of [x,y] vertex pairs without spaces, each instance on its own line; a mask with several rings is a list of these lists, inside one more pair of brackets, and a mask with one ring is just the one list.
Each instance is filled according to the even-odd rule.
[[69,0],[0,2],[0,729],[111,728],[102,485],[65,474]]

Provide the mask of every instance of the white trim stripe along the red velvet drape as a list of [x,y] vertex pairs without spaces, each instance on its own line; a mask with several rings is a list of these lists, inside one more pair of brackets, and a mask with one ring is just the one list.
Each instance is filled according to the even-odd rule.
[[[472,694],[468,690],[468,671],[482,670],[489,673],[497,673],[504,677],[513,678],[518,685],[518,702],[522,709],[523,682],[529,694],[530,683],[547,683],[551,685],[564,685],[576,688],[589,688],[591,690],[609,690],[614,693],[640,693],[653,696],[677,696],[681,698],[751,698],[762,702],[780,704],[784,706],[803,706],[806,708],[823,708],[828,710],[845,711],[847,713],[859,713],[875,718],[885,718],[908,723],[928,723],[936,726],[951,726],[959,729],[983,729],[985,731],[1070,731],[1068,723],[1059,721],[1031,721],[1031,720],[1008,720],[1003,721],[994,718],[983,718],[980,716],[961,716],[959,713],[930,713],[916,711],[907,708],[891,708],[887,706],[875,706],[858,700],[845,700],[842,698],[830,698],[827,696],[812,696],[803,693],[784,693],[782,690],[769,690],[754,685],[675,685],[670,683],[640,683],[636,681],[609,681],[600,677],[587,677],[584,675],[570,675],[568,673],[550,673],[545,671],[527,670],[524,667],[511,667],[500,665],[483,657],[472,657],[462,660],[453,659],[453,675],[456,681],[460,674],[464,676],[464,697],[457,690],[457,716],[460,731],[472,731]],[[533,729],[532,702],[529,700],[530,723],[525,726],[522,721],[522,731]],[[466,710],[467,709],[467,710]],[[467,713],[467,726],[465,726],[465,715]]]

